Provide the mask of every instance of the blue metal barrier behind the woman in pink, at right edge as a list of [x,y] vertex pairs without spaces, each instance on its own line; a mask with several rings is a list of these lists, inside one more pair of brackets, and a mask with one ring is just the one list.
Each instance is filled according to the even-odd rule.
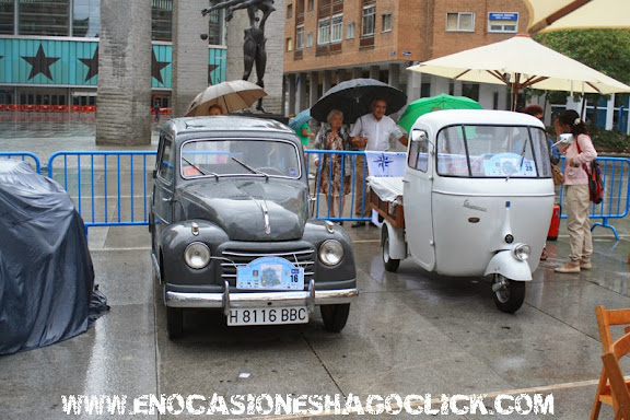
[[[595,222],[591,226],[593,231],[596,226],[608,228],[619,240],[617,229],[608,223],[608,219],[621,219],[628,214],[630,206],[630,189],[628,177],[630,175],[630,159],[626,158],[597,158],[602,168],[602,182],[604,184],[604,200],[591,206],[590,219],[602,219],[602,222]],[[562,156],[562,167],[564,167],[564,156]],[[560,188],[560,206],[562,206],[564,188]],[[567,219],[567,214],[560,215]]]

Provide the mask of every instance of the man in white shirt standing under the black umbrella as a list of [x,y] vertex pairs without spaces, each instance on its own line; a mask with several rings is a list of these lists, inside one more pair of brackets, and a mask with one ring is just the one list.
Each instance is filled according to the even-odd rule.
[[[375,98],[372,101],[372,113],[359,117],[352,131],[350,131],[348,142],[353,147],[353,150],[386,152],[389,150],[390,135],[394,135],[400,143],[407,145],[407,136],[392,118],[385,115],[386,110],[387,103],[385,100]],[[364,165],[364,156],[358,155],[354,176],[354,215],[358,218],[368,218],[370,215],[368,188],[363,176],[364,171],[366,172],[368,170]],[[352,228],[363,225],[365,225],[364,221],[352,223]]]

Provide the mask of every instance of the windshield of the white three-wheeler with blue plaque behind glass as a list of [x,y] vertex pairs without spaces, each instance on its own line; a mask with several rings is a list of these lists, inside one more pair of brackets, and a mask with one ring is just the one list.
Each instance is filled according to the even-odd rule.
[[438,135],[438,173],[459,177],[548,178],[545,131],[525,126],[452,126]]

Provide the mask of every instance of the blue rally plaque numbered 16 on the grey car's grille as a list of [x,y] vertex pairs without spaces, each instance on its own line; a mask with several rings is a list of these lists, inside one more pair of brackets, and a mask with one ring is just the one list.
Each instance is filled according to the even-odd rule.
[[280,257],[256,258],[236,268],[236,289],[304,290],[304,269]]

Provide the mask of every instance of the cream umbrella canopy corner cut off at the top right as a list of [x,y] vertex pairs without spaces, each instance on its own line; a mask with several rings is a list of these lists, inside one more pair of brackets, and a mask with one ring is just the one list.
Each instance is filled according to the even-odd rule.
[[524,0],[528,32],[630,27],[628,0]]

